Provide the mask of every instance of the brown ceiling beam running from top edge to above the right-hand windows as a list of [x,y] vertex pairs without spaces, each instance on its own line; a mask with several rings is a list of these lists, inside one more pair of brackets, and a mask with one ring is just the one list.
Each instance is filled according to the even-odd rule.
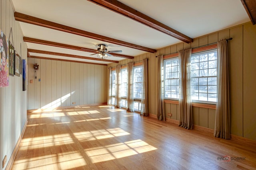
[[145,14],[142,14],[141,12],[138,12],[137,10],[117,0],[88,0],[88,1],[93,2],[94,4],[97,4],[99,6],[102,6],[108,10],[112,10],[113,12],[116,12],[128,18],[131,18],[132,20],[143,23],[144,25],[152,27],[158,31],[171,35],[172,37],[175,37],[183,42],[186,42],[186,43],[193,42],[192,38],[180,33],[179,31],[176,31],[175,29],[172,29],[171,27],[168,27],[167,25],[164,25],[163,23],[157,20],[154,20],[153,18],[150,18],[149,16],[146,16]]

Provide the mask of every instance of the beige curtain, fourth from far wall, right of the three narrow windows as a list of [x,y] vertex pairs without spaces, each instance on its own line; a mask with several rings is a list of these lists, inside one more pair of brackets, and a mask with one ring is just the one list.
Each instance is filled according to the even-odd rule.
[[141,98],[141,115],[148,116],[148,59],[142,61],[143,68],[143,88]]

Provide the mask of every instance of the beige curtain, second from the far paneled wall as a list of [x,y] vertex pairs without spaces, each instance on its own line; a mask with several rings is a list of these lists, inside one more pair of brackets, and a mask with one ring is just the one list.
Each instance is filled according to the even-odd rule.
[[116,66],[116,100],[115,107],[121,108],[121,65]]

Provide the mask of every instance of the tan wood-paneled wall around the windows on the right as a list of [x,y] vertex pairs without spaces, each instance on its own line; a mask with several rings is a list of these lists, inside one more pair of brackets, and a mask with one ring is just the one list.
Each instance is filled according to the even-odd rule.
[[[193,43],[178,43],[162,49],[156,53],[145,53],[126,59],[119,64],[127,64],[132,61],[141,61],[148,58],[148,102],[149,113],[156,114],[156,82],[157,82],[157,55],[175,53],[184,48],[195,48],[215,43],[220,39],[230,38],[228,48],[230,53],[230,111],[231,133],[241,137],[256,140],[256,25],[244,23],[218,32],[210,33],[202,37],[194,38]],[[108,66],[116,66],[112,63]],[[165,104],[167,118],[179,119],[178,106]],[[172,113],[172,117],[168,114]],[[215,109],[193,107],[193,124],[214,129]]]

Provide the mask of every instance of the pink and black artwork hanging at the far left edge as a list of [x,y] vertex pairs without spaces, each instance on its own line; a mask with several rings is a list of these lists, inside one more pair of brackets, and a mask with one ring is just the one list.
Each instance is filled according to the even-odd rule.
[[9,42],[0,29],[0,87],[9,86]]

